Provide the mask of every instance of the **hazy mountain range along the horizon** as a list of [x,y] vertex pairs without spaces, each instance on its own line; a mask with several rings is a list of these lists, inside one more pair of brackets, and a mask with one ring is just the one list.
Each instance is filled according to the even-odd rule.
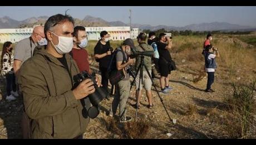
[[[47,16],[41,17],[32,17],[28,19],[24,19],[21,21],[12,19],[10,17],[0,18],[0,28],[29,28],[33,27],[35,24],[44,24],[48,19]],[[76,25],[83,25],[85,27],[107,27],[107,26],[129,26],[120,20],[114,22],[107,22],[102,18],[92,17],[90,15],[86,15],[85,18],[77,19],[75,18]],[[225,30],[225,31],[246,31],[246,30],[256,30],[256,27],[249,27],[237,24],[230,24],[225,22],[212,22],[212,23],[200,23],[200,24],[190,24],[185,27],[174,27],[168,25],[157,25],[152,26],[150,24],[131,24],[131,27],[150,30],[157,29],[165,29],[165,30],[193,30],[193,31],[213,31],[213,30]]]

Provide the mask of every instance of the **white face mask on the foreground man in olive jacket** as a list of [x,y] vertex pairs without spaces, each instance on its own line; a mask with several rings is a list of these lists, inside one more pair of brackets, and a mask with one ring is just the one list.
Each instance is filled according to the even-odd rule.
[[[53,34],[55,34],[55,33],[53,33]],[[57,34],[55,34],[55,35],[58,36]],[[55,49],[59,54],[69,53],[73,48],[73,38],[58,36],[58,44],[57,45],[53,44],[53,46],[55,46]]]

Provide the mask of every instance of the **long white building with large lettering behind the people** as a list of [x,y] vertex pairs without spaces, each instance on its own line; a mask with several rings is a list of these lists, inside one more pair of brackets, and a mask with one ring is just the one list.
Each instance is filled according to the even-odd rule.
[[[130,27],[85,27],[88,34],[88,40],[99,40],[100,32],[106,30],[110,34],[110,40],[125,40],[127,38],[136,39],[139,28],[132,28],[130,35]],[[10,41],[12,43],[19,42],[24,38],[31,36],[33,28],[22,29],[0,29],[0,43]]]

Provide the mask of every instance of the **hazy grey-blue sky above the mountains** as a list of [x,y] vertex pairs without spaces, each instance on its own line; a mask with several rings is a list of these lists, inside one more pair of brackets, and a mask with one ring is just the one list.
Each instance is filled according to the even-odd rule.
[[183,27],[188,24],[208,22],[228,22],[256,27],[256,7],[0,7],[0,18],[4,16],[16,20],[42,15],[51,16],[65,13],[66,9],[74,18],[83,19],[86,15],[100,17],[107,21],[121,20],[129,23],[129,9],[132,23],[170,25]]

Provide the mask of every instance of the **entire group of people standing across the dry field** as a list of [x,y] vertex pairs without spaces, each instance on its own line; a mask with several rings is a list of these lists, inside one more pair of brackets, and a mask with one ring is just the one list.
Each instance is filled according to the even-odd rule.
[[[85,79],[75,85],[75,75],[82,71],[92,74],[92,70],[89,67],[86,50],[88,39],[85,27],[74,25],[70,15],[52,15],[44,27],[35,27],[31,37],[17,43],[14,57],[12,43],[3,44],[1,74],[7,80],[6,99],[14,100],[18,95],[23,97],[24,138],[82,138],[86,131],[90,119],[84,108],[90,108],[91,103],[87,96],[95,92],[95,86],[91,79]],[[96,82],[98,87],[102,86],[108,91],[108,68],[114,50],[111,49],[110,35],[106,31],[102,31],[100,37],[94,48],[95,59],[99,62],[101,72],[101,77],[96,75]],[[168,62],[171,61],[169,50],[172,47],[172,39],[165,33],[156,37],[155,32],[150,32],[148,39],[145,33],[140,33],[137,42],[139,45],[135,46],[134,41],[128,38],[116,48],[116,69],[124,71],[125,77],[115,84],[116,93],[109,116],[114,116],[119,106],[120,122],[132,120],[132,117],[126,115],[127,100],[130,96],[130,74],[127,70],[131,65],[138,69],[141,61],[140,57],[136,60],[129,57],[132,49],[154,51],[154,56],[145,56],[144,63],[150,73],[152,65],[159,71],[163,94],[173,89],[169,86],[171,70],[168,66]],[[216,66],[214,58],[218,55],[218,50],[206,45],[203,54],[208,71],[206,90],[210,91],[210,85],[214,80],[213,69]],[[149,101],[148,107],[152,108],[150,77],[155,76],[147,74],[145,69],[142,73],[143,82],[139,81],[140,74],[135,78],[137,101],[133,106],[140,108],[144,86]],[[81,99],[84,103],[81,103]]]

